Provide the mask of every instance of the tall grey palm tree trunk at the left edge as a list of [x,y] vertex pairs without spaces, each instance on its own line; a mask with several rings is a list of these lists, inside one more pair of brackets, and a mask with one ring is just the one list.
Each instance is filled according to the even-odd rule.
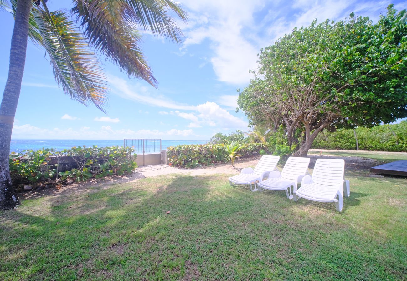
[[15,110],[24,73],[31,6],[32,0],[17,1],[11,37],[9,75],[0,105],[0,210],[8,210],[20,204],[11,186],[9,154]]

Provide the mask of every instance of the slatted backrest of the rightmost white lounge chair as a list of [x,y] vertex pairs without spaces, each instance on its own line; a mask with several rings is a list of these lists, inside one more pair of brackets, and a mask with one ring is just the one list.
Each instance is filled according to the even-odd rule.
[[343,159],[317,159],[311,179],[317,184],[337,186],[344,179]]

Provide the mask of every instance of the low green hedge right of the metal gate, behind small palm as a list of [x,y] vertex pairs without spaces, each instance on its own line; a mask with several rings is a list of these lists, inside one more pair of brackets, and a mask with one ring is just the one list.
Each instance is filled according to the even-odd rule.
[[[268,151],[267,144],[248,143],[239,150],[242,157],[260,155],[260,150]],[[225,162],[224,144],[177,145],[167,148],[168,161],[171,166],[195,168]]]

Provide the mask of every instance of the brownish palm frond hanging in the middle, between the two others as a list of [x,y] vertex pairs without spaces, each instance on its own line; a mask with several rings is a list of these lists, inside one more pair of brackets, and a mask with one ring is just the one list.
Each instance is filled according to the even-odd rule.
[[106,59],[116,63],[129,77],[141,78],[156,86],[147,60],[142,54],[136,17],[121,0],[76,0],[72,13],[77,16],[89,43]]

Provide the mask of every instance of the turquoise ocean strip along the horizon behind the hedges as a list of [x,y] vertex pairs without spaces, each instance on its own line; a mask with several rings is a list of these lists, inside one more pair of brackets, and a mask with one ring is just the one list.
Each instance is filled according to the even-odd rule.
[[[175,145],[191,145],[191,144],[205,144],[208,141],[177,141],[177,140],[162,140],[161,147],[166,149]],[[106,146],[123,146],[122,140],[50,140],[50,139],[12,139],[10,143],[10,152],[21,152],[27,149],[42,149],[56,148],[57,150],[69,149],[71,147],[78,146],[92,147],[97,145],[98,147]]]

